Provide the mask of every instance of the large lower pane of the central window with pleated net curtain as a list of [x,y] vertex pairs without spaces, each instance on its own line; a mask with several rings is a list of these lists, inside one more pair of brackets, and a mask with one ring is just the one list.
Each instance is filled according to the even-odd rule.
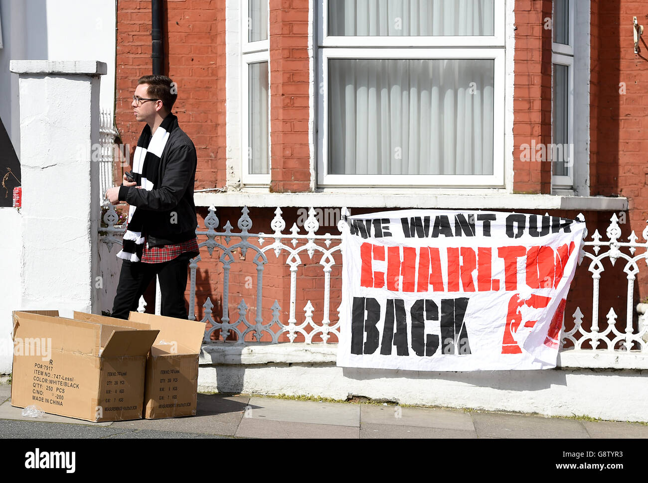
[[492,175],[493,85],[493,60],[329,60],[329,173]]

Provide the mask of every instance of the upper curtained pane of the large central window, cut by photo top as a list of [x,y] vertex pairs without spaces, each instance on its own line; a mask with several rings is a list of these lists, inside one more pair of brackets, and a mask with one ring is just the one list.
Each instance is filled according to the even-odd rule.
[[494,0],[329,0],[330,36],[494,35]]

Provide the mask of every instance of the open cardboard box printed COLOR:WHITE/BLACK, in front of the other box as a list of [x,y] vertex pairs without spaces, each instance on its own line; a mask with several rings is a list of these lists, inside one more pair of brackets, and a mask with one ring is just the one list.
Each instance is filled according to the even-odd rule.
[[142,417],[146,355],[158,330],[14,311],[11,404],[86,421]]

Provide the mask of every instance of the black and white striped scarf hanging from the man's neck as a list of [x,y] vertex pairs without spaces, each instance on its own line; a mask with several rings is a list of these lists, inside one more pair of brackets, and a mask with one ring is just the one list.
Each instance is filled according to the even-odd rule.
[[[142,129],[133,155],[132,172],[138,188],[150,191],[158,185],[159,179],[157,177],[160,158],[167,145],[169,133],[176,128],[178,128],[178,118],[173,114],[169,114],[153,135],[151,135],[151,128],[148,124]],[[144,250],[144,236],[142,234],[144,216],[145,212],[130,205],[122,249],[117,254],[119,258],[130,262],[139,262],[141,260]]]

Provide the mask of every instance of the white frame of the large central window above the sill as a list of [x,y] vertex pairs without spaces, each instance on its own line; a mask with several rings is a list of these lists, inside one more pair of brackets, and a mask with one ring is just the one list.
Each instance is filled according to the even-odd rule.
[[[505,2],[494,3],[492,36],[328,36],[328,1],[318,1],[317,182],[322,188],[505,188]],[[329,60],[492,60],[492,175],[371,175],[329,173]]]

